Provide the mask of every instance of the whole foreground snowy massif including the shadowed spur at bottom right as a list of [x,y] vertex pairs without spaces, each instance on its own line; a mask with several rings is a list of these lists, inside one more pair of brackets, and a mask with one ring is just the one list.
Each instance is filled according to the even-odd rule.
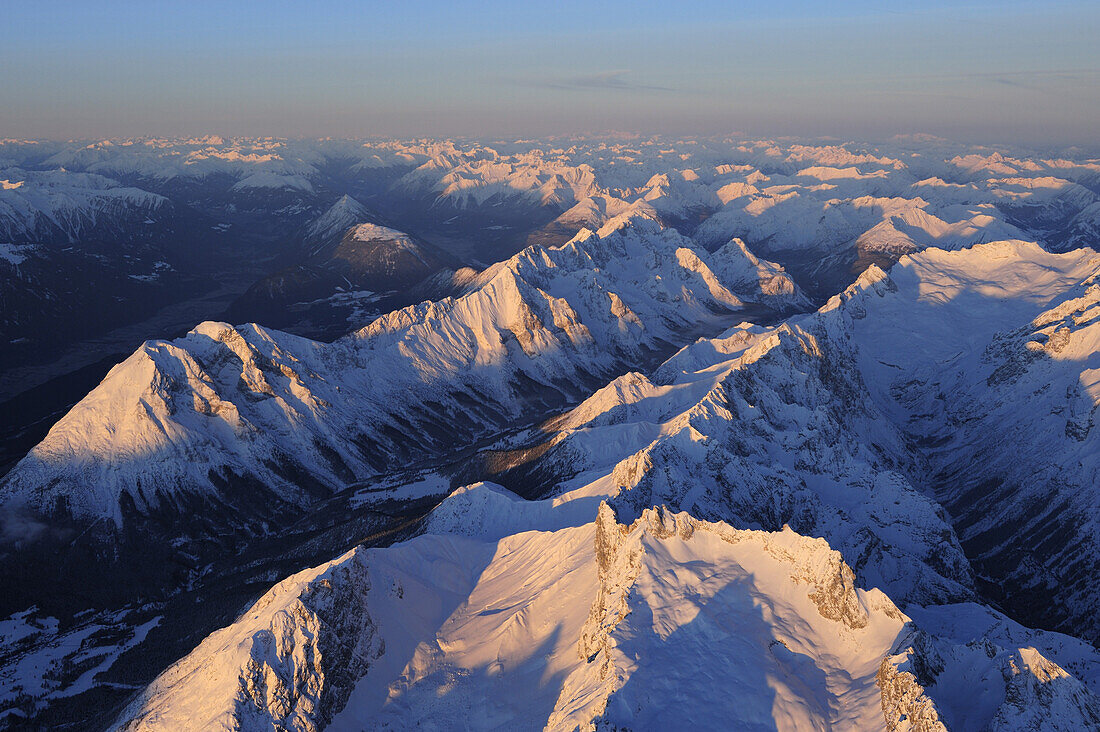
[[[506,504],[510,528],[498,535]],[[979,605],[911,621],[881,591],[859,589],[822,539],[661,509],[630,523],[606,504],[562,509],[486,484],[460,491],[436,514],[468,522],[433,520],[426,535],[284,580],[162,674],[118,725],[1014,729],[1023,713],[1069,730],[1098,720],[1094,649]]]

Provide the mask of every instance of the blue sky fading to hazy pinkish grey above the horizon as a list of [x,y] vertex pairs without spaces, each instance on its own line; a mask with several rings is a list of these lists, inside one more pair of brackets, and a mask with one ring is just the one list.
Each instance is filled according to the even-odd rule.
[[0,6],[0,138],[594,130],[1100,142],[1100,3]]

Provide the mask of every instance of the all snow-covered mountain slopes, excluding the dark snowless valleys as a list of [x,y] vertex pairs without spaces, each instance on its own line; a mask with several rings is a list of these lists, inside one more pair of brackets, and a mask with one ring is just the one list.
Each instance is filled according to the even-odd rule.
[[[285,468],[337,488],[718,332],[717,312],[804,308],[758,255],[900,261],[606,383],[548,425],[548,498],[466,487],[425,535],[280,582],[122,726],[1100,728],[1094,646],[978,604],[972,578],[1100,638],[1100,259],[1044,251],[1100,241],[1100,161],[931,135],[0,141],[0,259],[165,205],[116,178],[309,195],[336,160],[446,216],[543,208],[579,233],[332,345],[216,323],[145,343],[4,478],[4,511],[121,523],[234,476],[308,505]],[[344,197],[307,232],[369,218]],[[22,618],[0,642],[56,630]],[[51,691],[67,642],[21,656],[20,684]]]

